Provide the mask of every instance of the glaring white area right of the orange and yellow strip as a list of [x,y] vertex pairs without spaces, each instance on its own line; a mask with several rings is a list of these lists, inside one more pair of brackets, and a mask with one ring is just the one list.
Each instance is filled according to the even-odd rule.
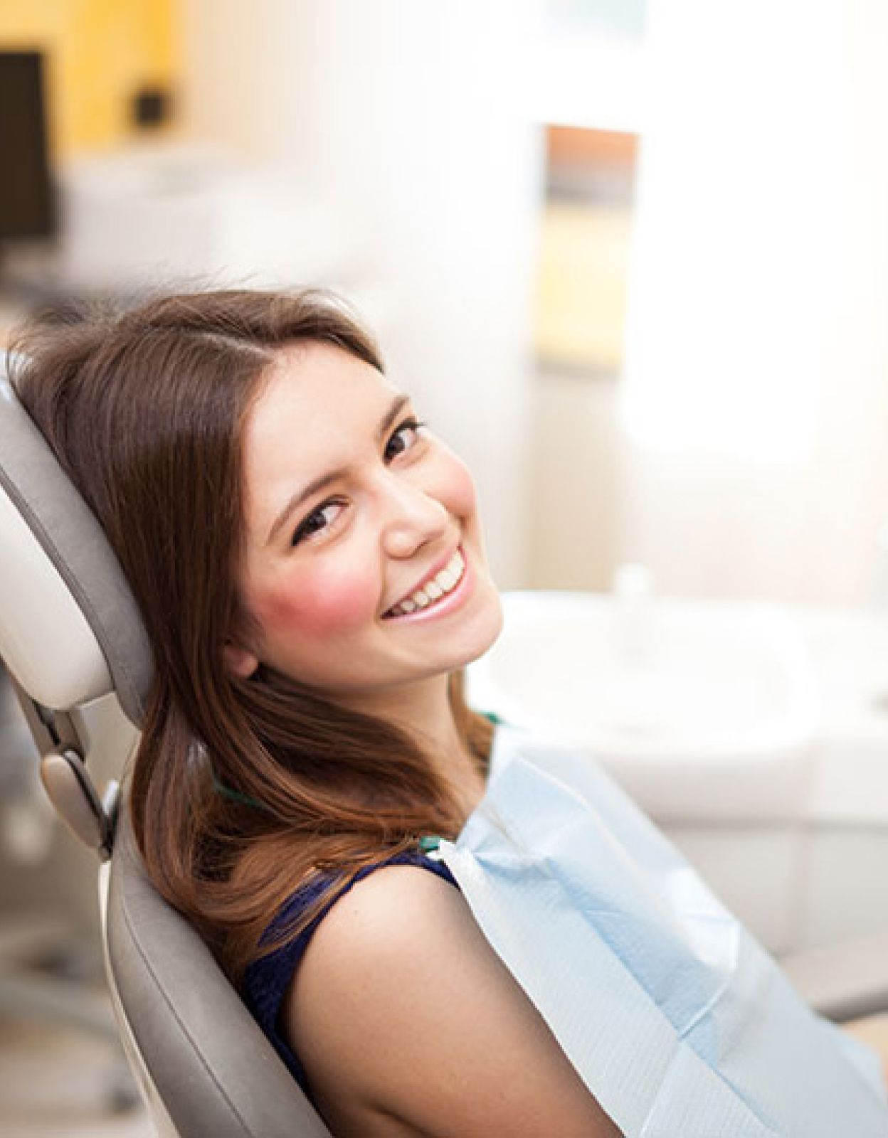
[[888,512],[888,9],[651,6],[620,554],[865,599]]

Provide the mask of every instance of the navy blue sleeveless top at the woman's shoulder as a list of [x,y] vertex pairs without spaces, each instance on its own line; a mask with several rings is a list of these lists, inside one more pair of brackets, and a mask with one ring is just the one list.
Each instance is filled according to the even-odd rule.
[[[352,885],[361,881],[363,877],[367,877],[368,874],[371,874],[375,869],[381,868],[383,865],[418,865],[424,869],[429,869],[431,873],[436,873],[439,877],[443,877],[445,881],[449,881],[452,885],[455,885],[457,889],[459,889],[453,874],[443,861],[433,861],[424,853],[420,853],[419,850],[408,850],[403,853],[396,853],[388,860],[380,863],[380,865],[371,865],[360,869],[355,874],[354,880],[350,882],[346,890],[339,896],[345,896],[345,892],[347,892]],[[297,889],[296,892],[293,893],[291,897],[283,904],[278,915],[263,933],[262,939],[269,939],[282,926],[296,920],[309,905],[311,905],[324,892],[324,890],[330,889],[335,881],[336,879],[334,876],[319,877]],[[338,898],[336,898],[336,900],[338,900]],[[311,1094],[309,1091],[305,1070],[296,1057],[293,1048],[283,1038],[279,1020],[283,996],[290,980],[293,979],[299,962],[305,955],[309,941],[312,939],[318,925],[321,923],[324,915],[330,910],[334,904],[335,901],[330,900],[329,904],[324,905],[314,920],[289,943],[248,965],[244,976],[242,995],[247,1007],[273,1044],[274,1049],[283,1059],[290,1073],[297,1080],[305,1094],[310,1097]]]

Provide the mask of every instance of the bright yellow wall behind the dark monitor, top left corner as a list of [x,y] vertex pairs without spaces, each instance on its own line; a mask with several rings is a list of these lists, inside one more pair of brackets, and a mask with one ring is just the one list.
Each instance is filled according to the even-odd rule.
[[55,156],[131,135],[130,100],[172,88],[174,0],[2,0],[0,50],[43,50]]

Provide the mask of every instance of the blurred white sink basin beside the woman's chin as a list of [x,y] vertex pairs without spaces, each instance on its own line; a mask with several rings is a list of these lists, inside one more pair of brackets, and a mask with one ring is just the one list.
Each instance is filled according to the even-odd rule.
[[817,729],[808,652],[755,601],[503,596],[476,707],[581,745],[658,819],[797,816]]

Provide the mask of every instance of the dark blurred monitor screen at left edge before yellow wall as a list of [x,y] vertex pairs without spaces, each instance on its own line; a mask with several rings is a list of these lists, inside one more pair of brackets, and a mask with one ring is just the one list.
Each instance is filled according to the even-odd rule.
[[38,51],[0,51],[0,239],[55,229]]

